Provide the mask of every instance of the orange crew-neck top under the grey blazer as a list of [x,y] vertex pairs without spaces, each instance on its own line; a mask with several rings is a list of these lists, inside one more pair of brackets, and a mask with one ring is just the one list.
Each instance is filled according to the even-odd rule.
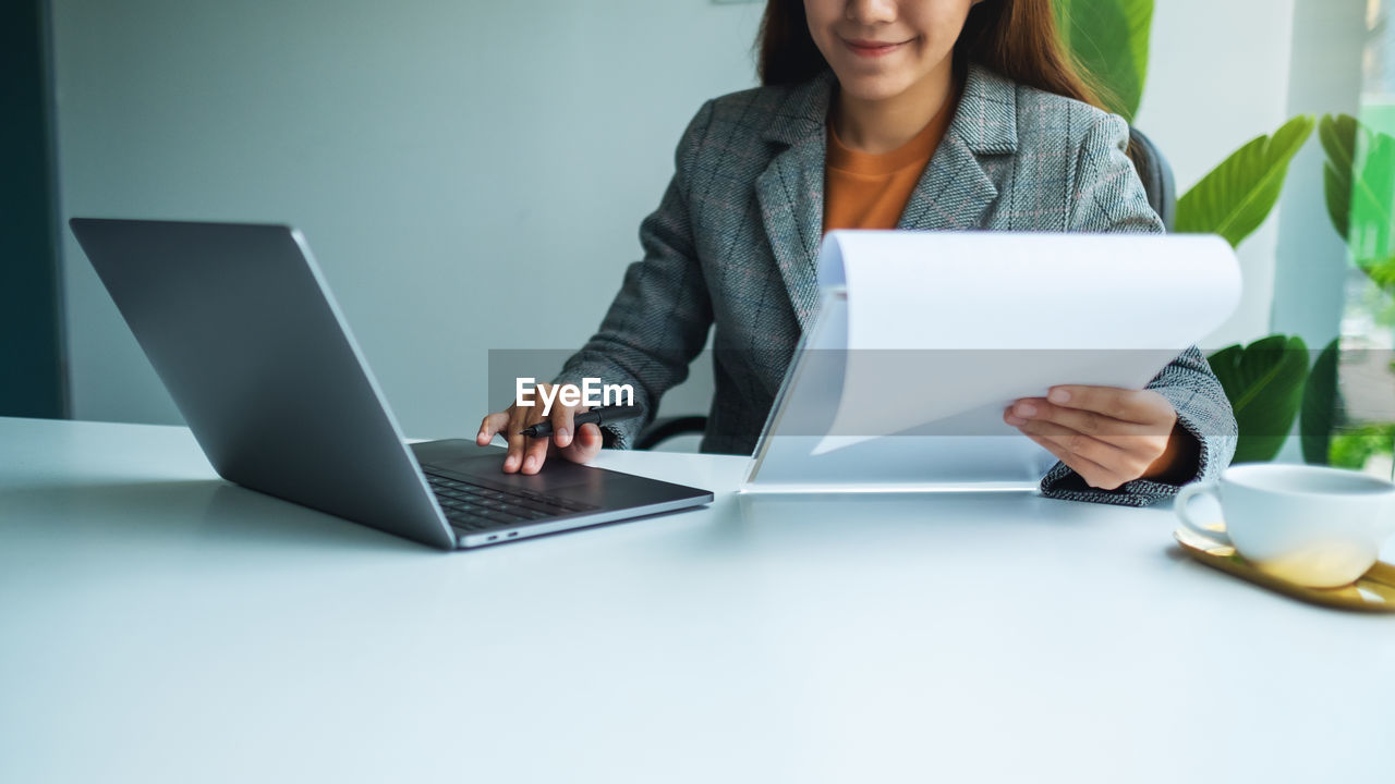
[[830,113],[823,179],[823,230],[896,229],[921,172],[944,138],[957,105],[958,100],[946,100],[915,138],[883,153],[844,146],[833,130]]

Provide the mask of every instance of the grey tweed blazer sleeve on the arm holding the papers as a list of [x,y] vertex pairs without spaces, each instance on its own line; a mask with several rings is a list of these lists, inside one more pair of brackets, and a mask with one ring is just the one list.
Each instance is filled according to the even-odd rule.
[[[1127,144],[1129,126],[1115,114],[1102,116],[1087,134],[1073,179],[1069,230],[1162,232],[1162,222],[1148,205],[1143,183],[1124,152]],[[1196,346],[1172,360],[1147,388],[1172,403],[1177,421],[1201,445],[1196,473],[1189,481],[1212,478],[1230,465],[1239,438],[1235,412]],[[1180,485],[1140,478],[1116,490],[1098,490],[1057,462],[1041,487],[1050,498],[1147,506],[1176,495]]]

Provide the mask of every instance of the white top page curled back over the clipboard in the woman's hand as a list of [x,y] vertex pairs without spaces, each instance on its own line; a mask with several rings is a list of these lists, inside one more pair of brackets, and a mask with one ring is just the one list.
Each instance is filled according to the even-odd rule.
[[1007,435],[1003,409],[1053,385],[1140,389],[1240,299],[1215,236],[830,232],[819,285],[845,292],[817,319],[845,352],[813,455],[936,423]]

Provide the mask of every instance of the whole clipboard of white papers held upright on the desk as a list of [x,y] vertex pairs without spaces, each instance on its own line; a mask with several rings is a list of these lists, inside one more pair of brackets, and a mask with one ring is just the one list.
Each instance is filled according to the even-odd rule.
[[1214,236],[831,232],[819,285],[753,490],[1030,483],[1050,460],[1013,400],[1140,389],[1240,297]]

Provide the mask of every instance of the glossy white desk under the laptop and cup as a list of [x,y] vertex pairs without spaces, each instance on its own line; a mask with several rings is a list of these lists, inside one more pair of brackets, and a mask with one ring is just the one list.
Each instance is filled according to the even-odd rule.
[[444,554],[184,428],[0,420],[0,781],[1395,776],[1395,618],[1194,564],[1166,509],[600,463],[717,502]]

